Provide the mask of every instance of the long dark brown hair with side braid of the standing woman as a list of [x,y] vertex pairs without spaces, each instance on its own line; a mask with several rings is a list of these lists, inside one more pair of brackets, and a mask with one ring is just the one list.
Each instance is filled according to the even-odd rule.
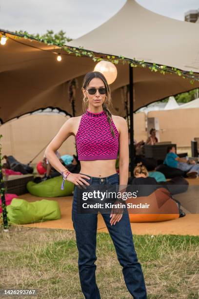
[[[86,89],[87,86],[89,85],[90,81],[94,78],[101,79],[105,85],[106,99],[105,99],[104,103],[102,104],[102,108],[103,108],[103,111],[106,113],[107,120],[110,124],[111,134],[113,137],[115,137],[115,133],[114,133],[113,127],[111,125],[111,112],[109,110],[109,107],[113,107],[112,102],[111,102],[111,91],[110,91],[109,85],[108,85],[104,75],[97,71],[96,72],[88,72],[83,78],[83,84],[82,84],[81,90],[83,92],[83,88]],[[83,108],[83,112],[85,112],[86,109],[88,108],[88,102],[85,103],[84,101],[82,101],[82,108]]]

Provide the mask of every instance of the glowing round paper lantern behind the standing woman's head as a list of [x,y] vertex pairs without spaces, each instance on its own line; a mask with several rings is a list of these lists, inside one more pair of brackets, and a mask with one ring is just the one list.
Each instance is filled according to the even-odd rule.
[[112,64],[110,61],[105,60],[101,60],[98,64],[96,64],[94,71],[102,73],[106,78],[108,85],[112,84],[116,80],[118,75],[115,64]]

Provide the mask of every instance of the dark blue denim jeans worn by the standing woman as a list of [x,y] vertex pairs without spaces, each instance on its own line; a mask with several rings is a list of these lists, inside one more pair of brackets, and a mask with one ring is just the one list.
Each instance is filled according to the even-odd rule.
[[[84,174],[84,173],[81,173]],[[86,174],[87,175],[87,174]],[[107,177],[99,178],[90,176],[85,179],[92,184],[118,184],[119,174],[115,173]],[[105,186],[104,186],[105,187]],[[76,232],[77,247],[79,251],[78,267],[81,290],[85,299],[100,299],[100,291],[96,283],[96,235],[98,214],[77,213],[77,186],[75,186],[72,220]],[[126,210],[127,208],[125,208]],[[117,257],[122,266],[122,273],[128,291],[134,299],[146,299],[146,287],[141,265],[138,262],[134,247],[133,235],[129,220],[129,214],[124,213],[119,222],[110,224],[110,214],[102,214],[109,234],[113,240]]]

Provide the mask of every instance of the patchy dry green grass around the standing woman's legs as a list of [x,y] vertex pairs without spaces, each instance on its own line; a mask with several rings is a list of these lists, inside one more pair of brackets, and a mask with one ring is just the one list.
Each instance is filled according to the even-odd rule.
[[[148,299],[199,298],[199,236],[134,235],[133,239]],[[101,299],[132,298],[109,234],[97,235],[96,254]],[[3,233],[1,229],[3,288],[35,288],[37,298],[83,299],[75,232],[11,226],[9,233]]]

